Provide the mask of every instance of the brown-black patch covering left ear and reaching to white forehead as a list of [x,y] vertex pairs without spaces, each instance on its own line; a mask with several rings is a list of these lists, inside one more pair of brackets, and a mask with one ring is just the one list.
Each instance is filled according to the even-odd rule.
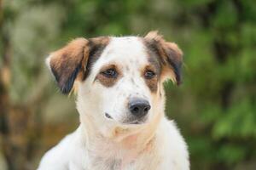
[[88,76],[91,65],[108,45],[108,39],[76,38],[64,48],[49,55],[49,67],[63,94],[71,91],[75,80],[82,81]]

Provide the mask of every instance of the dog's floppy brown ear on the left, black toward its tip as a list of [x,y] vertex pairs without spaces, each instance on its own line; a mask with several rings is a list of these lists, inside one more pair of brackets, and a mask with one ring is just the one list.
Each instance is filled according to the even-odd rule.
[[89,57],[89,41],[76,38],[67,46],[49,55],[46,59],[56,82],[63,94],[68,94],[78,75],[85,72]]

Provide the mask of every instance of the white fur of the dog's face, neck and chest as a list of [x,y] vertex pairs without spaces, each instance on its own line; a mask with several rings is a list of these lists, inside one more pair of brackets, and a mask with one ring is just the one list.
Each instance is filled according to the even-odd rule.
[[[108,64],[118,65],[123,74],[111,88],[94,81]],[[138,37],[112,37],[90,76],[77,82],[79,128],[44,155],[38,170],[188,170],[187,145],[175,123],[164,116],[165,98],[159,95],[164,95],[162,84],[152,94],[141,76],[147,64]],[[129,114],[126,103],[131,97],[147,99],[151,105],[143,124],[122,123]]]

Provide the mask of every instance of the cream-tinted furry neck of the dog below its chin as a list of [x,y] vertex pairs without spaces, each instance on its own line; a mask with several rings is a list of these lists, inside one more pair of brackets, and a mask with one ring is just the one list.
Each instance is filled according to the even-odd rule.
[[91,119],[87,117],[84,123],[81,123],[81,131],[88,150],[88,154],[93,156],[109,157],[119,159],[123,163],[129,163],[140,154],[154,149],[155,133],[159,126],[163,114],[155,114],[154,122],[149,122],[139,130],[114,127],[112,136],[102,135]]

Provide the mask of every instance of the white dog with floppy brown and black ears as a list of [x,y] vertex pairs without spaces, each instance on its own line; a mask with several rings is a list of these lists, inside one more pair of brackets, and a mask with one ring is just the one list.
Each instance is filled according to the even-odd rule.
[[183,52],[157,31],[74,39],[46,59],[80,125],[38,170],[188,170],[187,144],[165,116],[163,82],[181,83]]

